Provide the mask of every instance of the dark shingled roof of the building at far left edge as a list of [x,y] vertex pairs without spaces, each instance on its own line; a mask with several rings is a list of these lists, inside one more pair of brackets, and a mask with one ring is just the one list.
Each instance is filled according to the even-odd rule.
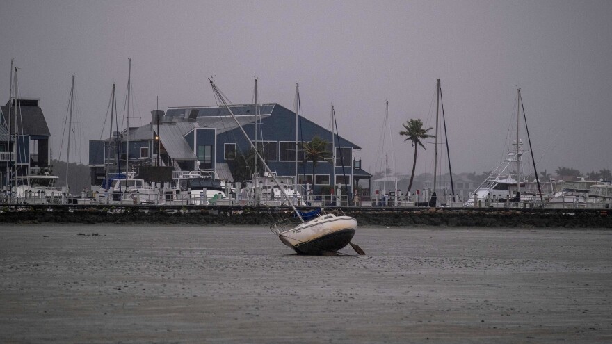
[[[17,133],[17,135],[51,136],[45,115],[42,114],[42,108],[38,106],[39,104],[38,99],[19,99],[17,101],[17,115],[15,115],[13,108],[10,109],[10,131],[14,134]],[[2,114],[7,121],[9,120],[8,108],[8,102],[5,106],[2,106]]]

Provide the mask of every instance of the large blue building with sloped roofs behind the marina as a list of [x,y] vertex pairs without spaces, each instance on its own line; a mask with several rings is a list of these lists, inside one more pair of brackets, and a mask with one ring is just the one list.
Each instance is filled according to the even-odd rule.
[[[231,108],[250,141],[256,141],[266,163],[278,175],[297,174],[300,184],[312,183],[312,163],[304,162],[301,142],[319,136],[328,140],[328,151],[335,151],[335,161],[320,161],[316,165],[314,193],[321,192],[323,187],[344,184],[348,190],[353,190],[360,181],[369,189],[371,175],[362,170],[360,161],[355,158],[354,152],[361,148],[353,142],[337,135],[332,137],[327,129],[298,117],[279,104],[247,104]],[[296,119],[300,135],[297,164]],[[255,158],[245,159],[250,154],[250,143],[227,109],[221,106],[175,107],[168,108],[166,113],[152,111],[150,124],[113,136],[90,141],[92,185],[100,185],[107,170],[125,170],[126,161],[129,170],[159,162],[161,166],[172,166],[177,172],[198,168],[214,170],[218,177],[230,181],[250,179],[250,174],[247,177],[244,170],[247,168],[252,172],[255,165]],[[129,149],[126,150],[128,140]],[[261,163],[257,172],[263,172]]]

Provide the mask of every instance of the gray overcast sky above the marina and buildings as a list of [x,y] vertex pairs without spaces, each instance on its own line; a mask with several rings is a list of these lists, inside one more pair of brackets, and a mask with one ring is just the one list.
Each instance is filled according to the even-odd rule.
[[[0,99],[15,58],[20,95],[42,99],[57,158],[76,74],[88,163],[113,82],[123,108],[129,57],[132,125],[150,122],[156,96],[161,110],[216,104],[211,75],[234,104],[251,101],[257,76],[260,99],[290,109],[299,81],[303,115],[328,127],[334,104],[370,172],[387,99],[394,170],[410,173],[398,132],[410,118],[435,125],[440,78],[453,172],[483,172],[504,156],[518,86],[538,170],[612,169],[611,17],[612,1],[3,0]],[[432,172],[427,154],[417,173]]]

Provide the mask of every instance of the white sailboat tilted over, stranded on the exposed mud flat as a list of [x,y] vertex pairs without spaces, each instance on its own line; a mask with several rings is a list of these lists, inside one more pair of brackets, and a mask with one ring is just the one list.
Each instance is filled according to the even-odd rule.
[[[225,98],[221,95],[214,81],[212,79],[209,79],[209,81],[216,97],[223,102],[223,106],[227,108],[227,111],[232,115],[232,118],[236,124],[238,124],[247,141],[250,142],[252,149],[256,152],[261,161],[261,165],[264,165],[264,168],[270,177],[272,177],[274,183],[280,187],[280,183],[275,174],[272,173],[266,161],[259,156],[259,151],[255,149],[255,145],[249,140],[247,133],[244,131],[238,119],[236,119],[230,106],[227,105],[227,101],[225,101]],[[317,208],[308,213],[300,212],[296,209],[293,202],[291,202],[287,193],[284,192],[284,188],[280,187],[280,190],[282,197],[287,201],[287,204],[291,205],[293,213],[295,214],[291,218],[285,218],[284,220],[274,222],[270,226],[271,231],[280,238],[280,241],[284,243],[284,245],[291,247],[291,249],[298,254],[322,255],[334,254],[339,249],[350,244],[358,254],[364,254],[359,246],[351,243],[351,239],[353,239],[355,231],[357,231],[357,220],[355,220],[355,218],[344,215],[341,210],[340,215],[325,213],[321,208]],[[298,225],[295,225],[296,219],[299,219],[300,223]]]

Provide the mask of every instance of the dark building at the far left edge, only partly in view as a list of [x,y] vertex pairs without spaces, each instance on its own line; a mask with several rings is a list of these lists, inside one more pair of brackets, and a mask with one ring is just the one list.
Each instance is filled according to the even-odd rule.
[[40,99],[12,99],[0,109],[0,186],[6,188],[15,176],[47,170],[51,133]]

